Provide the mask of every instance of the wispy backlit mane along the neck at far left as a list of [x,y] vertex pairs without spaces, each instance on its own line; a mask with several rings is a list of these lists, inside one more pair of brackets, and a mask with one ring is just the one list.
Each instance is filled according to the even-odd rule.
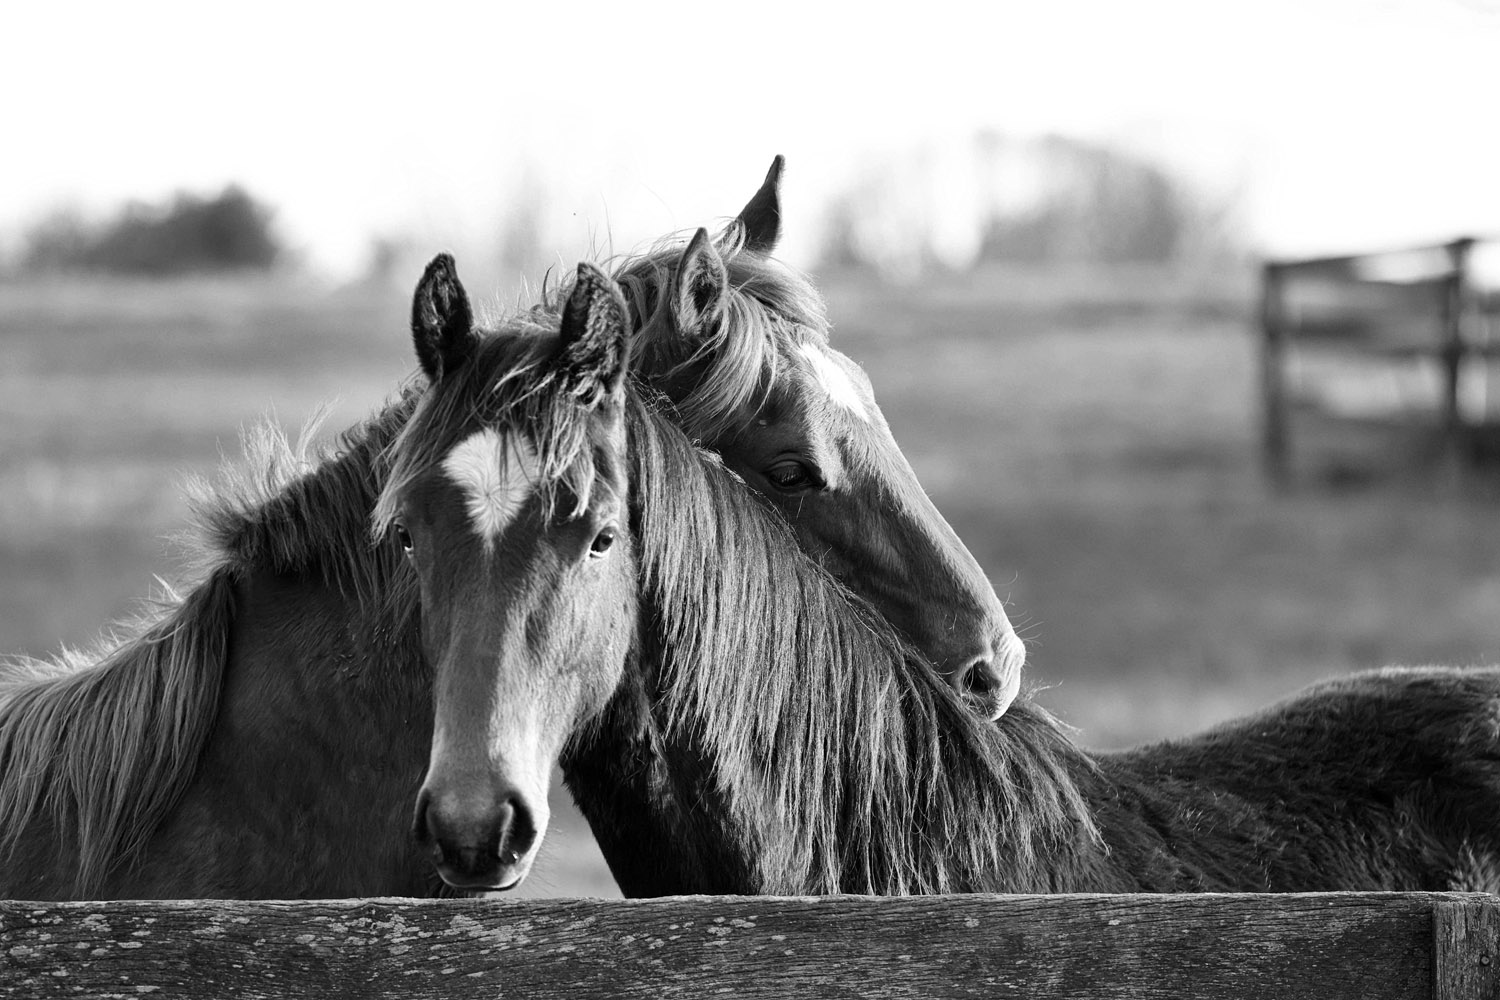
[[[168,598],[92,654],[0,664],[0,856],[45,814],[75,837],[74,895],[93,895],[171,813],[218,715],[236,582],[310,573],[354,597],[399,643],[416,613],[399,561],[369,544],[375,457],[408,420],[410,390],[326,454],[262,423],[244,463],[198,481],[192,507],[201,583]],[[382,636],[376,636],[382,637]]]

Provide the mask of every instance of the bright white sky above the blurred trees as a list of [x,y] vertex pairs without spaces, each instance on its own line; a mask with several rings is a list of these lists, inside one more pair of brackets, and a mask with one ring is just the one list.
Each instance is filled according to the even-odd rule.
[[861,162],[981,127],[1162,157],[1269,252],[1500,232],[1478,0],[416,6],[9,4],[0,232],[236,180],[346,273],[376,232],[482,243],[530,171],[566,256],[732,214],[784,153],[808,262]]

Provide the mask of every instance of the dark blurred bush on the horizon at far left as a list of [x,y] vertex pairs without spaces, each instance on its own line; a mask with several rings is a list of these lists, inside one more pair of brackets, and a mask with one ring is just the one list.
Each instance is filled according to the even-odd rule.
[[273,214],[236,184],[213,196],[178,192],[166,204],[134,201],[102,223],[63,208],[22,234],[21,268],[153,277],[264,271],[284,256]]

